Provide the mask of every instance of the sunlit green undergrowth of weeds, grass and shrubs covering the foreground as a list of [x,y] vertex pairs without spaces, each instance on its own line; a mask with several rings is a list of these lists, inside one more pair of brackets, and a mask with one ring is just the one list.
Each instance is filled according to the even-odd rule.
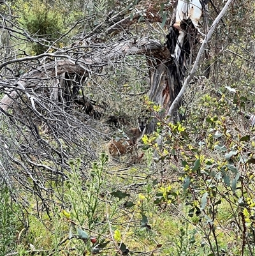
[[[158,119],[137,165],[119,169],[103,152],[84,177],[82,160],[69,160],[64,204],[39,218],[31,206],[18,249],[22,226],[2,210],[13,216],[8,229],[1,222],[12,234],[4,245],[20,255],[254,255],[251,133],[228,128],[224,96],[218,113],[204,99],[212,104],[200,126]],[[1,209],[9,205],[9,197],[1,201]]]

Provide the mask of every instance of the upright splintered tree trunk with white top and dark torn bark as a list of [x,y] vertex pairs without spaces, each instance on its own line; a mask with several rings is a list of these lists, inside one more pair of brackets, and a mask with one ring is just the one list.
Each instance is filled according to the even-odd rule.
[[[150,68],[150,100],[165,109],[159,118],[168,114],[171,103],[182,88],[186,70],[193,62],[192,53],[194,45],[198,41],[197,35],[200,32],[198,21],[201,14],[200,0],[178,1],[169,33],[166,36],[168,56],[154,56],[155,61],[151,59],[147,61]],[[175,107],[171,121],[177,122],[182,119],[178,112],[180,105],[181,101]],[[152,132],[154,126],[152,122],[148,132]]]

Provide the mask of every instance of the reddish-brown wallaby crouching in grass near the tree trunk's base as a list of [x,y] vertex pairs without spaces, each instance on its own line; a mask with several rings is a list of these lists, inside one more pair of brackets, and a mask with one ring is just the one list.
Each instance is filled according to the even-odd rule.
[[136,147],[137,142],[143,137],[145,133],[147,118],[138,118],[138,127],[131,128],[126,132],[128,139],[111,140],[108,146],[109,153],[112,156],[118,156],[126,153],[132,153]]

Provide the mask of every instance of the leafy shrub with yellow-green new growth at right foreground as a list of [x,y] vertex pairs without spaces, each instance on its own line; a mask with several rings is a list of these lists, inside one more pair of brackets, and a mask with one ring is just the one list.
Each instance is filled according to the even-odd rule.
[[[240,107],[245,104],[242,99],[235,92],[233,101],[242,102]],[[198,237],[194,241],[203,244],[212,255],[235,250],[231,245],[234,237],[236,249],[244,255],[254,255],[254,143],[249,131],[245,132],[238,124],[235,129],[227,125],[232,116],[224,95],[220,99],[204,95],[201,104],[203,110],[207,109],[204,112],[207,115],[199,113],[203,123],[198,120],[194,124],[194,117],[198,117],[200,111],[198,108],[193,110],[191,124],[184,126],[183,123],[159,121],[154,135],[143,138],[146,146],[156,149],[156,162],[177,165],[182,181],[183,190],[162,186],[154,203],[164,202],[179,208],[179,202],[185,201],[187,211],[183,207],[179,211],[186,223],[193,222],[196,234],[205,237],[205,241]],[[237,229],[228,229],[226,222]],[[222,239],[223,233],[230,237],[229,243]],[[249,234],[248,239],[245,234]],[[183,250],[181,245],[179,252]]]

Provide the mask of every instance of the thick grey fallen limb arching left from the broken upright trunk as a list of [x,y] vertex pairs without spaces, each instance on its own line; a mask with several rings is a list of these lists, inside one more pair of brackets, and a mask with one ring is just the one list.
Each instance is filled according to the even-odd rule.
[[[93,45],[91,47],[93,47]],[[89,76],[90,73],[96,72],[94,68],[102,67],[112,62],[116,63],[127,55],[143,54],[150,56],[151,54],[163,51],[163,47],[159,41],[149,40],[147,38],[142,38],[138,41],[121,41],[108,46],[94,45],[94,47],[95,48],[93,48],[91,52],[86,53],[85,56],[78,57],[76,60],[67,55],[41,54],[40,56],[24,57],[3,63],[1,68],[10,63],[40,59],[41,57],[50,56],[67,58],[66,60],[52,61],[51,63],[39,66],[36,70],[25,73],[20,77],[20,79],[12,82],[13,86],[18,86],[15,87],[15,90],[11,91],[11,93],[6,93],[0,102],[0,108],[6,111],[18,98],[17,90],[20,88],[24,89],[28,85],[31,85],[31,82],[29,82],[31,79],[33,79],[33,83],[35,83],[36,80],[34,79],[38,79],[37,82],[40,82],[41,79],[57,78],[57,76],[66,72],[70,74],[77,74],[85,78]]]

